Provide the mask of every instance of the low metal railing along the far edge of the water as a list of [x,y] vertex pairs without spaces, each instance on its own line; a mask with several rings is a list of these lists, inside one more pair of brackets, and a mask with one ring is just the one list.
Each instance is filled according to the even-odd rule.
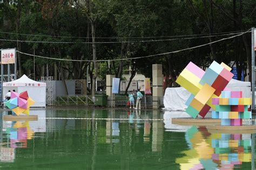
[[[136,97],[134,101],[134,106],[136,105]],[[143,96],[142,102],[140,103],[142,108],[145,108],[145,102],[146,102],[146,108],[152,108],[153,101],[157,101],[158,107],[164,107],[163,102],[164,97],[153,97],[150,95]],[[115,101],[116,107],[126,107],[126,103],[128,101],[127,96],[122,95],[115,95],[113,100]],[[111,102],[111,96],[109,97],[109,102]],[[56,99],[53,101],[55,105],[96,105],[95,100],[93,100],[93,96],[90,95],[62,95],[62,96],[56,96]]]

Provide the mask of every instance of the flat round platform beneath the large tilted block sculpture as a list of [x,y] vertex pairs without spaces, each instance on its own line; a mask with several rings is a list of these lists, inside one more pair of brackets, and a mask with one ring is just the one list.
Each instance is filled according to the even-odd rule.
[[172,124],[179,124],[179,125],[215,125],[220,124],[220,119],[212,119],[212,118],[172,118]]

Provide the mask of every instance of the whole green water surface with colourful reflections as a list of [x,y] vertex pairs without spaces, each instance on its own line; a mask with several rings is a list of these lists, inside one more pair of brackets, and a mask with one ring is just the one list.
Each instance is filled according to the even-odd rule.
[[253,135],[172,125],[171,112],[63,109],[32,110],[33,114],[38,114],[38,121],[1,121],[1,169],[254,166]]

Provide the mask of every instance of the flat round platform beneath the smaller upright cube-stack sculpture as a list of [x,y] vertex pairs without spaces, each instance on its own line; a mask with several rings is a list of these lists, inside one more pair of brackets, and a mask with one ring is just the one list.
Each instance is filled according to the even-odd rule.
[[[223,125],[209,125],[208,130],[215,130],[219,133],[256,133],[256,125],[242,125],[242,126],[223,126]],[[250,132],[251,131],[251,132]]]

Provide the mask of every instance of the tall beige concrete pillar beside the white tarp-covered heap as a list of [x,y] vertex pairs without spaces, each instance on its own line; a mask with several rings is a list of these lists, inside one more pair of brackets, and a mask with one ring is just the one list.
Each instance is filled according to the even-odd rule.
[[152,77],[153,77],[153,98],[152,104],[153,109],[157,109],[160,98],[163,96],[163,74],[162,74],[162,65],[152,65]]

